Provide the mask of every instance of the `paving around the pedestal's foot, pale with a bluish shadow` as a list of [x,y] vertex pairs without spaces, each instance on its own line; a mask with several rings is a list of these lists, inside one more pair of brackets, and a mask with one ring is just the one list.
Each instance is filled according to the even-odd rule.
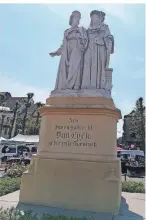
[[138,193],[122,193],[121,207],[119,215],[106,213],[83,212],[77,210],[67,210],[48,206],[35,206],[18,204],[19,191],[0,197],[0,207],[16,207],[19,210],[32,210],[39,215],[46,213],[51,215],[66,215],[75,217],[91,217],[92,220],[144,220],[145,219],[145,195]]

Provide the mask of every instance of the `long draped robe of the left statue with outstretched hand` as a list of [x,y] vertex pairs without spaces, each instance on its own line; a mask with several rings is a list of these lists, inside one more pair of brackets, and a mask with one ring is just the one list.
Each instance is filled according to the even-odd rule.
[[87,32],[84,28],[67,29],[62,46],[57,50],[61,55],[55,90],[79,89],[83,71],[82,48],[87,45]]

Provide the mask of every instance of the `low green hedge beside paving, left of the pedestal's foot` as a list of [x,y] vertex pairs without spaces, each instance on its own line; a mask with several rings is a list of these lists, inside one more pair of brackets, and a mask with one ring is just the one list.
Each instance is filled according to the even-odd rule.
[[0,196],[12,193],[20,189],[20,178],[5,177],[0,179]]

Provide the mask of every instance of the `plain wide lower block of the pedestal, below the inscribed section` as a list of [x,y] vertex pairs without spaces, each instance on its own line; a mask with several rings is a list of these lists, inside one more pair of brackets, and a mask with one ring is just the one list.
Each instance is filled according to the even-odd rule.
[[120,161],[33,158],[23,174],[20,202],[93,212],[118,213]]

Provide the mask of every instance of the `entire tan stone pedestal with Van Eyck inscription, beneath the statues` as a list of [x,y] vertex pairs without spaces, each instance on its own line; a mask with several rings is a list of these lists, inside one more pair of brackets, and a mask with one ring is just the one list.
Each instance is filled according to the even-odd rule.
[[49,98],[42,114],[39,150],[23,174],[20,202],[118,213],[121,168],[112,99]]

